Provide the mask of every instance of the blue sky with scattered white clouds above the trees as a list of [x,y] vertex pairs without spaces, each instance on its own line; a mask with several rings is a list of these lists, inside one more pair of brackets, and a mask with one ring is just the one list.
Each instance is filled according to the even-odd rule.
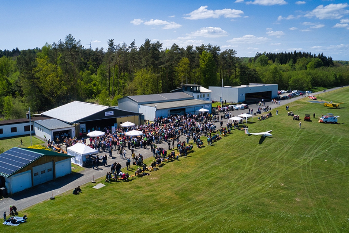
[[148,38],[257,52],[306,51],[349,60],[349,4],[333,0],[0,1],[0,49],[57,42],[69,33],[92,49],[108,39],[140,46]]

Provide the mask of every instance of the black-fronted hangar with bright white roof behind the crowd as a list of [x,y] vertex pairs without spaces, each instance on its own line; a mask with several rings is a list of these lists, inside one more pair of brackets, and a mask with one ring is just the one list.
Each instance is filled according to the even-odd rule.
[[[129,109],[121,110],[104,105],[74,101],[43,112],[41,115],[74,125],[75,132],[81,133],[86,133],[88,129],[91,130],[96,127],[103,130],[105,126],[117,126],[126,121],[135,124],[144,123],[144,116],[141,113],[127,110]],[[78,136],[77,133],[75,133],[75,136]]]

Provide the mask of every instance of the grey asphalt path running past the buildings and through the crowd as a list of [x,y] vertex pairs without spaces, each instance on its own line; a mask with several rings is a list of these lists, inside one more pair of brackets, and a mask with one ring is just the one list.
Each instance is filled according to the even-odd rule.
[[[326,92],[335,90],[335,89],[339,89],[340,87],[336,87],[336,88],[332,88],[332,89],[327,89]],[[321,92],[317,92],[317,93],[312,93],[311,95],[317,95],[323,93]],[[276,108],[276,107],[280,107],[282,105],[288,105],[293,101],[299,100],[301,98],[307,98],[308,95],[304,95],[304,96],[298,96],[292,99],[288,99],[288,100],[281,100],[280,101],[280,105],[279,104],[272,104],[271,102],[266,102],[265,105],[268,105],[269,107],[271,107],[272,109]],[[253,109],[253,112],[257,111],[257,106],[255,104],[251,104],[249,105],[249,107],[251,109]],[[240,114],[243,113],[247,113],[248,110],[246,109],[242,109],[242,110],[233,110],[231,111],[231,114],[234,116],[238,116]],[[222,115],[221,113],[219,113],[218,115]],[[258,117],[257,116],[253,116],[253,117]],[[223,118],[223,126],[226,125],[228,119],[224,119]],[[253,120],[255,121],[255,120]],[[219,128],[220,126],[220,122],[215,123],[217,125],[217,128]],[[185,140],[184,136],[180,137],[181,141]],[[176,147],[177,144],[175,144]],[[161,144],[157,144],[158,147],[163,147],[163,148],[168,148],[167,143],[165,143],[165,141],[163,141]],[[172,144],[171,144],[172,146]],[[175,150],[177,152],[177,149]],[[140,149],[137,148],[135,149],[135,154],[138,155],[139,153],[142,154],[143,159],[147,159],[150,157],[153,157],[153,153],[151,152],[150,146],[148,146],[147,149]],[[109,155],[107,152],[102,152],[99,153],[99,157],[101,157],[102,155]],[[27,190],[23,190],[21,192],[18,192],[16,194],[11,195],[10,197],[7,198],[2,198],[0,199],[0,210],[2,211],[6,211],[7,213],[9,213],[9,207],[10,205],[15,205],[17,207],[17,210],[23,210],[26,209],[32,205],[35,205],[37,203],[43,202],[45,200],[49,200],[51,196],[57,196],[59,194],[62,194],[64,192],[72,192],[73,189],[77,186],[81,186],[84,185],[86,183],[89,183],[92,181],[92,179],[98,179],[101,177],[104,177],[106,175],[107,172],[110,172],[110,165],[114,162],[120,163],[122,165],[123,168],[126,167],[126,159],[121,159],[120,155],[117,154],[117,151],[113,151],[113,159],[108,159],[107,160],[107,166],[99,166],[99,169],[92,169],[92,167],[87,167],[84,168],[83,171],[79,172],[79,173],[72,173],[63,177],[60,177],[58,179],[55,179],[53,181],[49,181],[46,182],[44,184],[40,184],[37,185],[35,187],[32,187],[30,189]],[[126,157],[131,158],[131,151],[126,150]],[[134,170],[130,170],[129,171],[130,175],[134,174]],[[130,183],[130,185],[132,185]]]

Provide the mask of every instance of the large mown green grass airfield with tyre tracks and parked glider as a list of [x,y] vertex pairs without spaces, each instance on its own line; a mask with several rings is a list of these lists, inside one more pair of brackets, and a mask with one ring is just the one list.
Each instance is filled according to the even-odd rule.
[[[290,104],[300,115],[341,116],[339,124],[279,115],[248,124],[152,176],[56,196],[20,211],[28,223],[5,232],[349,232],[349,89],[318,95],[339,109]],[[102,182],[100,179],[97,183]]]

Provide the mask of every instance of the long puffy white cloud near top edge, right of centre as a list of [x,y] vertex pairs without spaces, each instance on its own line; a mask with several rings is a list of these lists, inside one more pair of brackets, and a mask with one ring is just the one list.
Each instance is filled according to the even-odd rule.
[[244,14],[242,10],[235,9],[222,9],[222,10],[208,10],[207,6],[201,6],[199,9],[192,11],[184,19],[188,20],[198,20],[198,19],[209,19],[209,18],[219,18],[223,16],[224,18],[238,18]]

